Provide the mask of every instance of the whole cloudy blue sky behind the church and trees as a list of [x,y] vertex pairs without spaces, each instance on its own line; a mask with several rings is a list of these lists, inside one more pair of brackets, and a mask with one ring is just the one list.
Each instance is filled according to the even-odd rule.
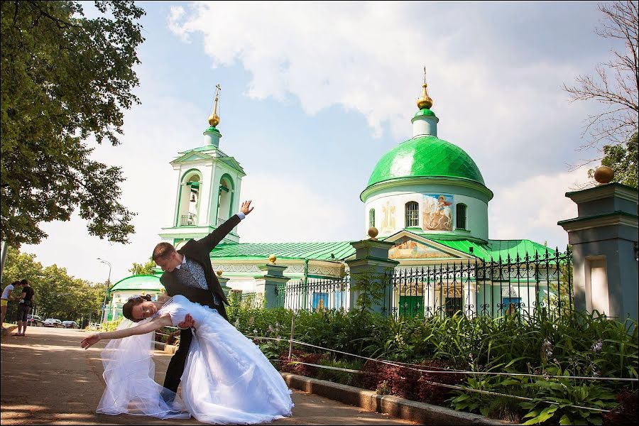
[[561,87],[619,47],[594,33],[596,3],[138,5],[141,105],[121,145],[94,154],[124,169],[136,234],[123,246],[88,236],[78,217],[45,224],[48,239],[23,246],[44,265],[102,281],[104,258],[116,281],[148,259],[172,214],[169,162],[202,144],[217,83],[220,148],[246,170],[242,198],[255,204],[241,241],[364,238],[359,194],[410,138],[424,66],[439,138],[464,148],[495,193],[491,239],[567,244],[557,221],[576,208],[564,192],[586,181],[568,164],[599,155],[577,148],[600,106],[571,104]]

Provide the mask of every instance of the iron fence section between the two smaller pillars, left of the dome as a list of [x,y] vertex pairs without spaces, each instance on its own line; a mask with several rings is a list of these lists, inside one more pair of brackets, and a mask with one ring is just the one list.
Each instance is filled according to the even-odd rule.
[[290,310],[348,310],[350,277],[293,280],[278,285],[278,307]]

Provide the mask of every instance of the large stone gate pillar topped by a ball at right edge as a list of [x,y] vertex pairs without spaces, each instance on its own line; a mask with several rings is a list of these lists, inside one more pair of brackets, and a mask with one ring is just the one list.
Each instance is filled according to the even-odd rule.
[[578,217],[557,224],[572,244],[575,309],[637,320],[638,191],[613,182],[566,197]]

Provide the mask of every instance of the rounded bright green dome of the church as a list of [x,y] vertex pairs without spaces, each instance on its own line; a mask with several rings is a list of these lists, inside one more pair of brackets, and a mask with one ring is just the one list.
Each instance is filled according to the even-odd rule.
[[418,136],[388,151],[375,166],[368,187],[400,178],[453,178],[485,186],[470,155],[435,136]]

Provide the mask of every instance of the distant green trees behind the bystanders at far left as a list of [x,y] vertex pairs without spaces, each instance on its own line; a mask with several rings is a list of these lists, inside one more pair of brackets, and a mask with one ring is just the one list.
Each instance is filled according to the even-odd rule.
[[[35,305],[40,317],[62,321],[80,321],[89,316],[99,319],[107,283],[94,284],[73,278],[65,268],[56,265],[43,267],[35,260],[35,255],[20,253],[9,247],[2,274],[2,288],[23,278],[35,290]],[[21,288],[16,288],[12,296],[18,297],[20,293]],[[15,317],[16,306],[16,302],[9,302],[7,320]]]

